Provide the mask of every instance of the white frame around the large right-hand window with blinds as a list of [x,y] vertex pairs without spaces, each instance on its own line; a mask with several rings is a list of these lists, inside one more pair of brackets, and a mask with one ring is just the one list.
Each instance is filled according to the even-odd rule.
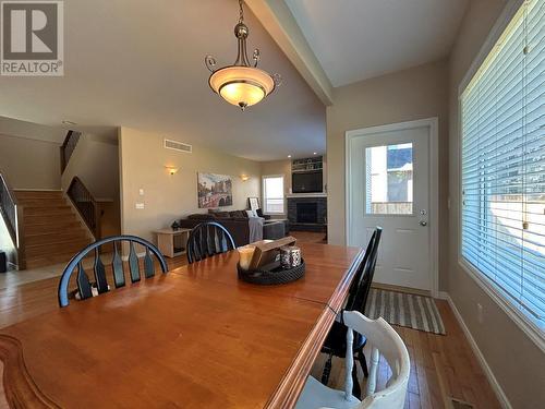
[[493,51],[498,39],[501,37],[512,19],[525,0],[510,0],[495,25],[491,29],[483,46],[473,60],[470,69],[463,76],[458,87],[458,118],[457,134],[459,146],[458,155],[458,238],[457,238],[457,258],[458,265],[468,274],[479,287],[517,324],[517,326],[543,351],[545,352],[545,330],[542,330],[537,324],[522,311],[522,308],[512,302],[512,296],[504,291],[498,285],[489,279],[484,273],[480,272],[471,262],[462,255],[462,215],[463,215],[463,185],[462,185],[462,95],[470,85],[473,76],[477,73],[488,55]]

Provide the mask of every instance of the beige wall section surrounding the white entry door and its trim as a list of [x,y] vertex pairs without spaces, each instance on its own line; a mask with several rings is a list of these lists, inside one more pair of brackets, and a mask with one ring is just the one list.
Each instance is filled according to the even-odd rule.
[[327,107],[329,243],[346,243],[344,132],[423,118],[439,118],[439,288],[447,286],[448,67],[438,61],[334,91]]

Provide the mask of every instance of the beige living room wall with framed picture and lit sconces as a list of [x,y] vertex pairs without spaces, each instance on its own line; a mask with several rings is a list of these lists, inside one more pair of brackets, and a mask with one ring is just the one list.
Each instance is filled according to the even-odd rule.
[[[129,128],[120,129],[121,228],[155,242],[156,229],[168,227],[192,213],[206,213],[197,205],[197,172],[230,175],[233,206],[246,208],[249,196],[261,196],[261,164],[193,145],[192,154],[162,147],[165,135]],[[171,139],[177,139],[171,136]],[[183,140],[181,140],[183,142]],[[170,176],[165,166],[180,170]],[[250,176],[243,182],[240,175]],[[144,196],[138,190],[144,189]],[[144,209],[136,209],[144,203]]]

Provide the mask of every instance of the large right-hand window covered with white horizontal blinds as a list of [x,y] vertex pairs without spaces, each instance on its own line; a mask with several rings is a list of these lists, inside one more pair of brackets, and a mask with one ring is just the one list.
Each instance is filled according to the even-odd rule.
[[545,329],[545,0],[525,1],[461,95],[461,254]]

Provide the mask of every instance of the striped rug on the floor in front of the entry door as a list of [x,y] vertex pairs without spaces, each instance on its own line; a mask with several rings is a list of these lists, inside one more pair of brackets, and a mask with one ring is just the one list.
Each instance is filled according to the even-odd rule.
[[426,333],[446,334],[439,310],[429,297],[372,288],[365,315],[372,320],[382,316],[390,324]]

